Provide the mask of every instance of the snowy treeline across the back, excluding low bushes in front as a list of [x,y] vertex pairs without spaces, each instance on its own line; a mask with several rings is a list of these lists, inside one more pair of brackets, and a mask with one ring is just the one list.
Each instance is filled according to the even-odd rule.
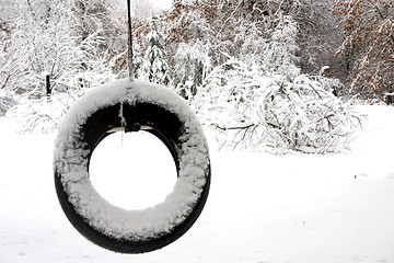
[[[146,18],[153,13],[151,5],[139,2],[136,60],[142,66],[147,35],[160,33],[151,37],[161,38],[169,85],[193,79],[188,88],[195,93],[205,76],[229,59],[256,64],[264,72],[280,72],[283,65],[275,62],[288,59],[302,73],[317,75],[329,66],[329,76],[346,83],[341,94],[382,99],[393,92],[391,0],[174,1],[153,27]],[[95,85],[124,70],[126,14],[120,1],[4,0],[0,5],[1,89],[39,96],[43,75],[50,75],[51,89],[62,92]],[[280,46],[275,43],[279,26],[294,30],[282,32],[288,39]]]

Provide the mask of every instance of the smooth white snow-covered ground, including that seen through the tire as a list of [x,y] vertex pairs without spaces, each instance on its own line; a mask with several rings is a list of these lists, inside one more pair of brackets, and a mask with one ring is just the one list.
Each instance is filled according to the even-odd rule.
[[[174,243],[139,255],[106,251],[80,236],[55,193],[55,136],[15,135],[0,118],[0,263],[394,262],[394,107],[360,110],[369,121],[341,155],[212,150],[210,196],[200,218]],[[154,204],[175,182],[170,153],[144,137],[131,138],[130,146],[118,136],[95,152],[93,183],[117,205]],[[131,164],[120,153],[136,148],[132,172],[146,176],[129,184],[120,174]],[[106,171],[108,163],[120,172]],[[155,171],[170,176],[155,178]]]

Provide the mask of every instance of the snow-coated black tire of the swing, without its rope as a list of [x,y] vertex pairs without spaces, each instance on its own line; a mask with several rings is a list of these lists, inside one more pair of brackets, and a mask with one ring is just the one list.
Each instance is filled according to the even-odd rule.
[[[173,156],[177,181],[163,203],[126,210],[92,186],[89,162],[94,148],[121,128],[155,135]],[[66,216],[85,238],[108,250],[143,253],[163,248],[193,226],[208,197],[210,160],[201,125],[166,88],[119,80],[92,90],[65,116],[55,144],[55,185]]]

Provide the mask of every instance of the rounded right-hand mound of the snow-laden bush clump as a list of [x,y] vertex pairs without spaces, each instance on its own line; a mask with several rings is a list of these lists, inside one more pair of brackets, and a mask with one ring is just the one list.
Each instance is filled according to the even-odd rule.
[[340,151],[362,117],[324,89],[327,80],[299,76],[273,82],[262,91],[255,114],[265,145],[303,152]]

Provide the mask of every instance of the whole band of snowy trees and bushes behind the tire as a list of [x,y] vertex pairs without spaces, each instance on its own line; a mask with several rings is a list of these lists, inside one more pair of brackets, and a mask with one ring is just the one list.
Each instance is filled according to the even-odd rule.
[[[123,1],[0,5],[1,107],[39,102],[9,111],[40,116],[25,129],[61,116],[43,105],[56,101],[67,110],[85,88],[127,76]],[[224,136],[223,145],[335,150],[332,139],[359,123],[344,100],[384,101],[394,91],[392,0],[174,0],[162,12],[149,1],[132,7],[135,76],[188,100],[218,138]],[[324,142],[316,148],[316,140]]]

